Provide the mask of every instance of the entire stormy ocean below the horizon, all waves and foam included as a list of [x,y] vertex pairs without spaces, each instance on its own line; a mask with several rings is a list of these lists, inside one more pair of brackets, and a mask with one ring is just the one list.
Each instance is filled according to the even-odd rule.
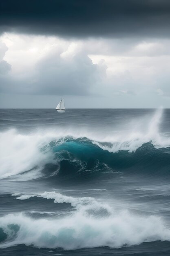
[[1,109],[0,255],[169,256],[170,109]]

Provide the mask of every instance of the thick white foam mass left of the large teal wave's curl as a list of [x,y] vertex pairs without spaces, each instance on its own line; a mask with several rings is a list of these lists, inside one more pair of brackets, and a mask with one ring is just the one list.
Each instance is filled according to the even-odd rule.
[[[53,162],[53,155],[42,151],[49,140],[38,134],[21,135],[16,130],[0,133],[0,178],[42,167]],[[35,173],[36,171],[34,171]]]

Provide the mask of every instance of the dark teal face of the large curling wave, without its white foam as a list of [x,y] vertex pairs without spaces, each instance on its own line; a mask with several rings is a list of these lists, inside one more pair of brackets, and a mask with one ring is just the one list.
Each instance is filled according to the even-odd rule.
[[53,146],[52,142],[51,147],[57,164],[44,166],[42,172],[45,177],[51,175],[57,179],[68,177],[79,181],[98,179],[101,174],[170,175],[170,148],[156,149],[151,142],[143,144],[135,152],[120,150],[117,153],[103,150],[87,139],[68,139],[60,146]]

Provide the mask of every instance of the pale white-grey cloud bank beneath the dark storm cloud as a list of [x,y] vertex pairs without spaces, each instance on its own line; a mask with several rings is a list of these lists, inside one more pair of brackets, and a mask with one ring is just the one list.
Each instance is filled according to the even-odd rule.
[[5,93],[115,95],[122,101],[128,95],[170,96],[170,40],[67,40],[10,33],[0,40]]

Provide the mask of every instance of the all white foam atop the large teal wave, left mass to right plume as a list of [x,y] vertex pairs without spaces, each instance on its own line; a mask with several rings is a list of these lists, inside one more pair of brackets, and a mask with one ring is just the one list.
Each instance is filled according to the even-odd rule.
[[59,145],[68,137],[73,139],[87,137],[93,144],[109,152],[118,152],[119,150],[133,152],[142,144],[150,141],[155,148],[166,148],[170,146],[170,137],[161,137],[159,134],[162,111],[162,109],[159,109],[155,112],[145,131],[141,131],[140,127],[133,121],[130,124],[130,131],[117,131],[109,136],[104,135],[104,133],[101,135],[98,132],[70,128],[65,130],[58,128],[57,132],[46,130],[28,135],[19,134],[13,129],[1,132],[0,178],[18,175],[31,169],[33,170],[16,176],[16,178],[19,180],[31,180],[41,177],[44,165],[54,163],[54,153],[49,143],[54,141],[56,145]]

